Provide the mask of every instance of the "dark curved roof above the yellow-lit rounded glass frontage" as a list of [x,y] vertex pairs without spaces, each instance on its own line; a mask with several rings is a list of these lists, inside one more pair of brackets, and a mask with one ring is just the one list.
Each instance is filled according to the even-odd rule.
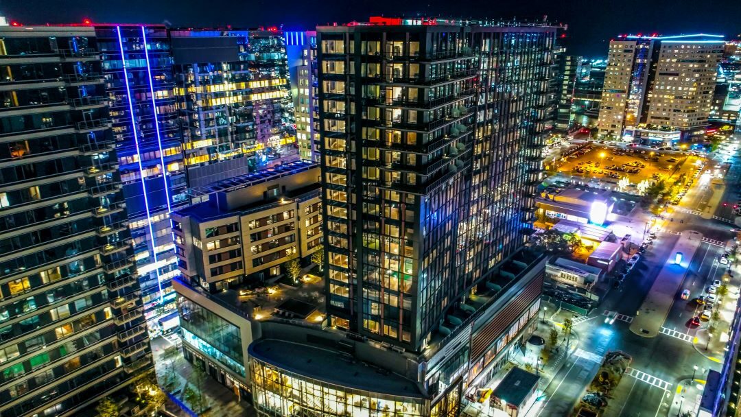
[[274,338],[254,341],[248,350],[250,356],[260,361],[329,384],[391,396],[425,398],[414,381],[343,356],[336,350]]

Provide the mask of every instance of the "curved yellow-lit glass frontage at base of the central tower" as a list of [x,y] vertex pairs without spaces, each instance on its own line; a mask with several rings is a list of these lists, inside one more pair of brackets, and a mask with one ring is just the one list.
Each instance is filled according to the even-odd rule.
[[423,398],[353,390],[250,357],[253,403],[260,416],[428,416]]

